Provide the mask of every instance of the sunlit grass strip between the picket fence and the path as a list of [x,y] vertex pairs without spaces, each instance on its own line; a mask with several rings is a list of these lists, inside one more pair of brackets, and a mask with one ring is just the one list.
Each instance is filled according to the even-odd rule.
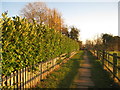
[[77,74],[82,55],[83,51],[79,51],[67,63],[62,64],[58,70],[41,81],[36,88],[69,88]]

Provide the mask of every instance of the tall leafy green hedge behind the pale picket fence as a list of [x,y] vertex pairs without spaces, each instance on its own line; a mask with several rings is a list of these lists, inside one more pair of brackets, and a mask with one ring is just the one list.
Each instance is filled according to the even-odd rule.
[[3,74],[78,50],[76,41],[25,18],[2,18]]

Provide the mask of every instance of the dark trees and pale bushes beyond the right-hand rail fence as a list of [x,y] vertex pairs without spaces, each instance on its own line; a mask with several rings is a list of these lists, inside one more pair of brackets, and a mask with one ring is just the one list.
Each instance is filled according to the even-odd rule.
[[93,48],[106,51],[120,51],[120,37],[111,34],[102,34],[99,37],[97,36],[93,41],[87,40],[86,47],[88,49]]

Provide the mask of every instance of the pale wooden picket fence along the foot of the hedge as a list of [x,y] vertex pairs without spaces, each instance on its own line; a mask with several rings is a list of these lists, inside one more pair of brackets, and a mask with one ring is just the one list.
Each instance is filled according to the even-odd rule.
[[[31,71],[29,67],[23,68],[18,71],[14,71],[10,74],[10,76],[2,76],[2,88],[33,88],[41,80],[45,79],[48,74],[50,74],[53,70],[59,68],[59,66],[69,60],[76,52],[72,52],[70,57],[66,57],[67,54],[62,54],[60,57],[55,59],[38,63],[35,65],[38,67],[37,71]],[[60,62],[60,60],[62,60]]]

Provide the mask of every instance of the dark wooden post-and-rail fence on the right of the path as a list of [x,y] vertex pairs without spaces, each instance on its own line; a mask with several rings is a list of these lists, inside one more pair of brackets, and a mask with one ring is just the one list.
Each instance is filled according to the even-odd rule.
[[120,56],[117,53],[110,54],[106,51],[91,51],[99,60],[101,60],[104,69],[108,70],[113,79],[120,84]]

